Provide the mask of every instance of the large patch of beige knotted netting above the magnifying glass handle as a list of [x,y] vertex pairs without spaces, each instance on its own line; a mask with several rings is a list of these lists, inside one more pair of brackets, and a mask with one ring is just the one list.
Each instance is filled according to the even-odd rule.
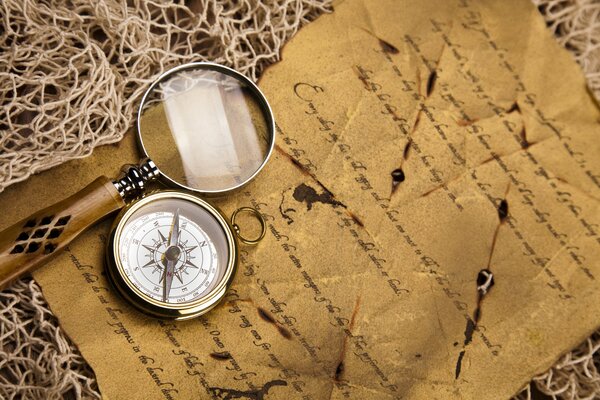
[[174,65],[214,61],[256,79],[327,4],[0,2],[0,191],[120,140],[147,83]]

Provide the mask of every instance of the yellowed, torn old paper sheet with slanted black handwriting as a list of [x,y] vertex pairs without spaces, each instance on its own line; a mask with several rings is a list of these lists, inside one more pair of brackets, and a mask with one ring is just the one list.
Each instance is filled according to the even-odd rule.
[[[269,232],[221,306],[134,311],[108,222],[35,274],[105,398],[505,399],[598,326],[600,114],[529,2],[340,2],[260,86],[277,151],[216,204]],[[136,158],[10,188],[4,225]]]

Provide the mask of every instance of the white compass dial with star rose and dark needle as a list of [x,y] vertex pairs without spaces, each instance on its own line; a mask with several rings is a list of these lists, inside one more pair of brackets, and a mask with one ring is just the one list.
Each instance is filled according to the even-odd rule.
[[209,295],[229,259],[222,225],[181,198],[159,198],[138,208],[123,222],[117,246],[126,283],[142,297],[170,305]]

